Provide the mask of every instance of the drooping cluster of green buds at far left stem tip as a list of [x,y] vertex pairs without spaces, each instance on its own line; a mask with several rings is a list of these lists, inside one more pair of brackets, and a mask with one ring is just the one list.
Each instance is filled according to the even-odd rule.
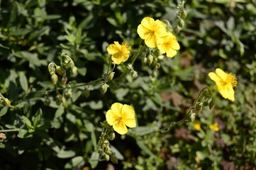
[[67,83],[66,71],[68,69],[70,69],[71,77],[77,76],[77,67],[74,66],[73,60],[65,53],[62,53],[60,58],[60,66],[58,66],[54,62],[48,64],[48,72],[50,73],[52,83],[57,84],[57,74],[59,74],[60,76],[62,76],[62,85],[65,85]]

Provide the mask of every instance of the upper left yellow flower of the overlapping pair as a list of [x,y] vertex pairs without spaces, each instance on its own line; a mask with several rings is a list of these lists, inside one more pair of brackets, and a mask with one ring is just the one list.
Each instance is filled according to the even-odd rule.
[[145,40],[148,47],[157,47],[157,40],[161,36],[167,34],[165,23],[160,20],[154,20],[150,17],[143,18],[141,24],[137,28],[137,33],[140,38]]

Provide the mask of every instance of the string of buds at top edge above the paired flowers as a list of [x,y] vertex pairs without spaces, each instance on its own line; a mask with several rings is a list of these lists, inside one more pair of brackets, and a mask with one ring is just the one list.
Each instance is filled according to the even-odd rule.
[[183,19],[187,17],[187,12],[184,10],[184,4],[185,1],[182,1],[180,4],[177,5],[177,9],[179,11],[177,12],[178,25],[174,29],[176,33],[179,33],[179,31],[182,30],[182,28],[185,26],[185,22]]

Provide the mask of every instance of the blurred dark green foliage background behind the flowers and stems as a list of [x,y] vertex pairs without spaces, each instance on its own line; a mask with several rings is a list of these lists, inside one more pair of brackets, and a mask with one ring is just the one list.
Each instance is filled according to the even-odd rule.
[[[135,108],[136,137],[116,134],[111,145],[118,164],[99,162],[95,169],[256,169],[255,0],[186,1],[185,26],[176,33],[177,56],[159,58],[160,68],[141,64],[139,56],[133,64],[137,78],[129,73],[115,79],[131,60],[118,65],[104,95],[100,84],[89,86],[88,98],[82,96],[83,87],[72,89],[72,97],[62,103],[57,102],[62,91],[43,92],[54,89],[48,64],[60,64],[62,52],[78,67],[78,76],[68,79],[71,84],[99,79],[108,68],[109,44],[125,41],[138,50],[136,30],[145,16],[176,28],[179,3],[0,1],[0,92],[16,106],[0,106],[0,125],[21,129],[6,133],[0,169],[91,169],[99,122],[115,102]],[[216,68],[236,74],[234,102],[213,91],[216,106],[204,108],[193,123],[143,134],[184,118],[199,91],[214,85],[208,72]],[[218,131],[209,128],[214,123]]]

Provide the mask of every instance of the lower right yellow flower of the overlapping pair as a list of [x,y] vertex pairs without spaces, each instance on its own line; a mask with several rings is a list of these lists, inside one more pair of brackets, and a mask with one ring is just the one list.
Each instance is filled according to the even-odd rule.
[[167,35],[162,36],[158,40],[157,47],[162,53],[166,52],[167,57],[174,57],[177,55],[177,50],[180,48],[177,38],[169,31],[167,32]]

